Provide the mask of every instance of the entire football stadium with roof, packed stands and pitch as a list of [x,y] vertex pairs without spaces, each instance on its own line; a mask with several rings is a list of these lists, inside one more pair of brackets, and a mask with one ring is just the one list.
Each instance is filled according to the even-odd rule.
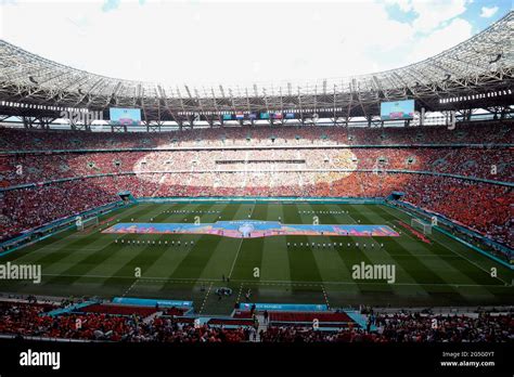
[[512,342],[513,25],[300,84],[1,40],[0,337]]

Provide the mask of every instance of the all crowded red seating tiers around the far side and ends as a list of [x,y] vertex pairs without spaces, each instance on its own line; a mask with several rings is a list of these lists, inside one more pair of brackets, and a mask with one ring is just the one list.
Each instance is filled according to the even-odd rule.
[[401,192],[403,202],[512,247],[512,142],[511,120],[144,135],[0,128],[0,237],[117,202],[124,191],[136,198]]

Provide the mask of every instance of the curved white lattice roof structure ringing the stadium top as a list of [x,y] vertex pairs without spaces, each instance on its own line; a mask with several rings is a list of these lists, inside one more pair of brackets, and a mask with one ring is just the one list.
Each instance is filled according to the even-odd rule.
[[[0,41],[0,101],[105,110],[140,107],[143,119],[176,120],[198,113],[216,119],[223,112],[296,112],[334,117],[371,116],[383,101],[416,100],[426,110],[513,103],[511,93],[485,99],[476,94],[512,87],[514,12],[471,39],[425,61],[401,68],[312,82],[255,83],[249,88],[169,87],[111,78],[75,69]],[[380,56],[377,56],[380,58]],[[470,101],[455,104],[448,98]],[[33,105],[33,106],[30,106]],[[455,107],[458,106],[458,107]],[[463,107],[464,106],[464,107]],[[41,106],[40,106],[41,107]]]

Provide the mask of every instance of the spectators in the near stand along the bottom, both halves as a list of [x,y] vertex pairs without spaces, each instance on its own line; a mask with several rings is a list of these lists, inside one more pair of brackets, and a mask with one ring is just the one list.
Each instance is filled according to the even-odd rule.
[[[49,304],[0,301],[0,334],[127,342],[242,342],[255,334],[253,326],[193,325],[175,317],[72,313],[50,316]],[[150,321],[149,321],[150,318]],[[368,328],[350,323],[339,329],[312,329],[311,325],[270,325],[262,342],[512,342],[511,314],[389,313],[371,315]],[[371,327],[374,326],[374,327]],[[252,337],[252,339],[255,339]]]

